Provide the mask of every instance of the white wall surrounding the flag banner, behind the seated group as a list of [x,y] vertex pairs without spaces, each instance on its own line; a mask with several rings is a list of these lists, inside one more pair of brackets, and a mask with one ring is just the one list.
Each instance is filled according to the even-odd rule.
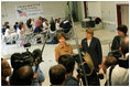
[[[35,1],[37,3],[37,1]],[[15,6],[17,4],[26,4],[35,3],[34,1],[22,1],[22,2],[1,2],[1,24],[6,21],[10,22],[10,25],[13,25],[17,21],[26,21],[26,19],[17,19]],[[40,2],[40,1],[39,1]],[[65,8],[64,1],[41,1],[43,9],[43,18],[65,18]],[[37,17],[39,18],[39,17]],[[34,19],[37,19],[34,18]]]

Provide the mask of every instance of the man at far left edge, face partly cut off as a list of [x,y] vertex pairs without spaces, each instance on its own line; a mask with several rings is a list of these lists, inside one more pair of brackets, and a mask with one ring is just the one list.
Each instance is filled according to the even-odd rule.
[[1,85],[2,86],[9,86],[9,81],[7,80],[7,77],[11,75],[11,67],[9,63],[1,58]]

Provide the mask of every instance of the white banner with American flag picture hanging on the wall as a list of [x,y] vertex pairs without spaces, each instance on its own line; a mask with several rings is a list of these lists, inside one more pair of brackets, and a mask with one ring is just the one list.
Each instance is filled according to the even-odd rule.
[[29,19],[43,17],[43,10],[41,3],[26,3],[17,6],[17,18]]

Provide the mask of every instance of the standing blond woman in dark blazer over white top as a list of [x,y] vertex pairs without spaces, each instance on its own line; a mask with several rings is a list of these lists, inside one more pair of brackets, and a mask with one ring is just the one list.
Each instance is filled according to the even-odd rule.
[[98,72],[101,67],[102,51],[99,39],[94,36],[93,29],[86,30],[86,37],[82,40],[82,46],[83,52],[89,53],[94,62],[95,69]]

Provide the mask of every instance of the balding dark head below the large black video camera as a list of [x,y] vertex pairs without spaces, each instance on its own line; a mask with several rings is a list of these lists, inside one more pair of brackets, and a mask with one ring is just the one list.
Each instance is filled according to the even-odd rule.
[[11,86],[31,86],[33,81],[33,69],[31,66],[21,66],[15,74],[12,74]]

